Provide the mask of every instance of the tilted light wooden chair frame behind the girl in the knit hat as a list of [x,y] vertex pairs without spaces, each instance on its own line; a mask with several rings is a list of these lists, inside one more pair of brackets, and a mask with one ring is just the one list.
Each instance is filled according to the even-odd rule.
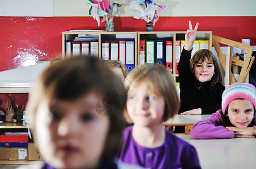
[[[226,56],[221,51],[219,43],[231,46],[231,56],[229,56],[231,62],[229,63],[229,70],[226,70]],[[225,71],[229,71],[229,84],[236,83],[236,79],[234,79],[234,75],[231,73],[231,64],[242,67],[237,82],[244,83],[250,71],[251,65],[253,64],[254,61],[254,56],[251,59],[251,54],[253,53],[253,46],[245,45],[244,43],[232,41],[230,39],[217,37],[215,35],[212,35],[212,44],[214,45],[217,55],[219,56],[220,63],[223,66],[223,69]],[[244,61],[232,58],[232,47],[241,48],[242,50],[247,51],[247,54],[244,55]]]

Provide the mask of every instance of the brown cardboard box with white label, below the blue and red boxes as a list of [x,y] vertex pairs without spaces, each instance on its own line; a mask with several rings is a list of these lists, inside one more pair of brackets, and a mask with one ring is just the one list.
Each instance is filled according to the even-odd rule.
[[0,160],[27,160],[28,148],[0,148]]

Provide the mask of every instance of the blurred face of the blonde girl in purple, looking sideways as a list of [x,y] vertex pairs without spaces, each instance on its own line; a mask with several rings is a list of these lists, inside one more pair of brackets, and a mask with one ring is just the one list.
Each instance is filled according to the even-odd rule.
[[147,82],[130,87],[126,106],[134,124],[149,127],[163,122],[164,97],[154,94]]

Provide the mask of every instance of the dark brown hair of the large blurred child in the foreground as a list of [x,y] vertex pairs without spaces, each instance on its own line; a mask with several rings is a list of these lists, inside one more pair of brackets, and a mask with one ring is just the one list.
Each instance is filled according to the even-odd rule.
[[[89,92],[95,92],[105,100],[108,109],[108,117],[105,118],[109,118],[110,127],[102,158],[113,159],[120,149],[122,130],[125,127],[123,108],[126,92],[123,83],[96,57],[71,57],[44,70],[29,94],[26,109],[29,122],[32,129],[35,128],[36,112],[42,98],[48,101],[72,101]],[[36,137],[35,130],[32,131]]]

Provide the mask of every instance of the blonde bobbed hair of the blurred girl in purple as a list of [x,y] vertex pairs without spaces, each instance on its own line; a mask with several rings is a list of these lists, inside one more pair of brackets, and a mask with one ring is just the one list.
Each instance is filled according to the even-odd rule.
[[[139,65],[135,67],[127,75],[125,79],[125,88],[129,91],[131,86],[138,86],[140,83],[148,82],[155,94],[163,96],[165,101],[163,121],[174,117],[178,112],[178,95],[176,85],[173,81],[173,76],[163,65]],[[127,122],[131,121],[127,108],[125,106],[125,117]]]

